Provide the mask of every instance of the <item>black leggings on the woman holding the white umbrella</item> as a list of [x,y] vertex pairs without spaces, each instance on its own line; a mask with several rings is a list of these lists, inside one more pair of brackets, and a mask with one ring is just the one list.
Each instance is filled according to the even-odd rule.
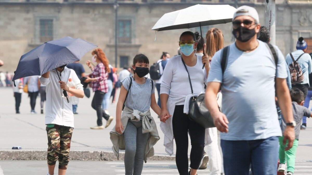
[[184,105],[175,106],[172,126],[173,136],[177,145],[176,164],[180,175],[188,175],[188,134],[191,139],[191,165],[198,169],[205,146],[205,128],[191,121],[187,114],[183,113]]

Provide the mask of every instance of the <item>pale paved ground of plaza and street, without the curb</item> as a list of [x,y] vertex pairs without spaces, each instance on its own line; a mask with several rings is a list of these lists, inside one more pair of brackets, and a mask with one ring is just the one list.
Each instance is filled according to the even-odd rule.
[[[44,114],[40,114],[40,97],[37,98],[36,111],[30,114],[29,98],[22,94],[20,112],[15,114],[12,88],[0,88],[0,151],[12,151],[12,146],[21,146],[22,150],[45,151],[47,138],[44,125]],[[156,97],[157,99],[157,97]],[[75,129],[72,136],[71,151],[105,151],[112,152],[109,131],[115,125],[115,120],[104,130],[91,130],[96,125],[96,112],[91,108],[91,98],[80,99],[75,115]],[[115,104],[110,105],[109,112],[115,116]],[[160,140],[154,146],[155,154],[166,156],[163,146],[163,133],[159,128],[160,121],[152,112]],[[311,120],[311,121],[310,121]],[[311,123],[311,125],[309,124]],[[308,119],[307,130],[300,133],[299,146],[296,155],[296,175],[312,174],[312,119]],[[190,146],[189,146],[190,147]],[[221,149],[220,149],[221,150]],[[1,158],[0,158],[1,159]],[[148,161],[144,163],[142,174],[178,174],[175,161]],[[35,175],[46,173],[45,160],[1,160],[0,175]],[[123,174],[122,161],[77,161],[69,164],[68,174]],[[198,174],[209,174],[209,171],[200,170]]]

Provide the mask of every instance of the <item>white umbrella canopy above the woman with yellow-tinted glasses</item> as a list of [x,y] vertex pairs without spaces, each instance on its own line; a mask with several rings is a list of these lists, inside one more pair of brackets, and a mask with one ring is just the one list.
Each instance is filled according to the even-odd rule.
[[164,14],[152,30],[166,31],[189,29],[231,22],[236,11],[230,5],[194,5],[182,10]]

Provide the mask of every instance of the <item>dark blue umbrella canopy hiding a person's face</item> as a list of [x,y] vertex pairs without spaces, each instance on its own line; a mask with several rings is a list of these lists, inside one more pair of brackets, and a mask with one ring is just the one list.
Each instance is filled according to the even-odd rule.
[[96,45],[69,36],[46,42],[22,55],[12,81],[32,75],[42,75],[61,65],[79,61]]

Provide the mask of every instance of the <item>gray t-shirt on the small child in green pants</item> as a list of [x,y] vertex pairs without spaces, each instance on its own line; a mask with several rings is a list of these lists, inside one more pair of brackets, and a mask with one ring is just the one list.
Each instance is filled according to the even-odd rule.
[[[301,124],[302,118],[303,116],[310,118],[311,111],[305,106],[298,105],[297,102],[292,102],[292,107],[293,107],[294,120],[296,122],[295,138],[299,140],[300,126],[301,126],[300,124]],[[282,129],[282,132],[284,134],[284,130],[286,129],[286,121],[284,117],[282,117],[282,123],[280,124],[280,128]]]

